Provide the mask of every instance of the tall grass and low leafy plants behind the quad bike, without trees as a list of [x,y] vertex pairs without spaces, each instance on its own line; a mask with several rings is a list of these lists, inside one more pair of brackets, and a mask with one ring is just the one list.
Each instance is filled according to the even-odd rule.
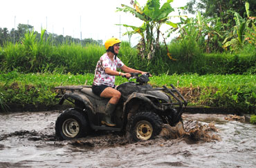
[[[193,34],[194,32],[192,32]],[[7,43],[0,48],[0,106],[54,105],[54,87],[93,83],[95,65],[104,54],[102,45],[71,43],[51,45],[49,39],[36,40],[33,32],[25,34],[21,43]],[[171,83],[183,92],[190,105],[227,107],[256,114],[256,50],[244,46],[239,53],[205,54],[189,36],[164,45],[152,60],[141,59],[136,48],[122,41],[118,57],[125,65],[150,72],[154,87]],[[116,84],[126,82],[117,77]],[[187,94],[188,93],[188,94]]]

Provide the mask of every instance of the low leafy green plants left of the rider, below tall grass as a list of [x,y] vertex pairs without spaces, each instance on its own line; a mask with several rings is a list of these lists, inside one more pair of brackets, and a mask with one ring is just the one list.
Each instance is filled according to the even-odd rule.
[[[93,82],[93,74],[21,74],[15,71],[0,74],[1,105],[55,105],[55,86],[84,85]],[[3,108],[2,108],[3,109]]]

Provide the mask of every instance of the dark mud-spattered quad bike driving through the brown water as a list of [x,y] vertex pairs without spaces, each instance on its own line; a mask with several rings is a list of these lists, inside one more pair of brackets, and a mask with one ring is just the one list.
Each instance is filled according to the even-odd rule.
[[[112,114],[116,127],[101,124],[108,98],[93,94],[91,86],[59,86],[60,105],[65,100],[74,104],[57,117],[55,133],[60,140],[81,138],[91,131],[128,131],[132,138],[149,140],[160,134],[163,123],[175,126],[181,120],[183,107],[188,102],[176,88],[152,88],[148,85],[149,73],[140,75],[130,73],[128,82],[118,85],[121,98]],[[125,77],[125,76],[123,76]],[[136,83],[131,79],[136,78]]]

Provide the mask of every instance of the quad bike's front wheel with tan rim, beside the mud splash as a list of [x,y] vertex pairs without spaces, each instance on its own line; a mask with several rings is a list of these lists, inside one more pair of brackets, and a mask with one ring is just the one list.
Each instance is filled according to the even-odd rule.
[[131,116],[128,122],[129,133],[135,141],[154,138],[161,132],[163,124],[161,118],[153,112],[139,112]]

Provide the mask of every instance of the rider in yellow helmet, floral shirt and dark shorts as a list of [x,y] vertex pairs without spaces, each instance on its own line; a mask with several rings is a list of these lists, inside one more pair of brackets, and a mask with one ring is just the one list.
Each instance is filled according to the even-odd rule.
[[[120,43],[121,41],[114,37],[105,42],[107,52],[100,57],[96,65],[92,86],[94,94],[100,97],[110,98],[105,109],[105,116],[101,121],[102,124],[110,127],[116,126],[116,124],[111,121],[111,114],[115,110],[116,104],[121,97],[121,93],[116,90],[115,76],[126,76],[126,78],[130,78],[131,74],[129,74],[129,72],[146,74],[146,72],[127,67],[118,59],[117,55],[120,49]],[[118,72],[116,70],[117,68],[120,68],[126,73]]]

